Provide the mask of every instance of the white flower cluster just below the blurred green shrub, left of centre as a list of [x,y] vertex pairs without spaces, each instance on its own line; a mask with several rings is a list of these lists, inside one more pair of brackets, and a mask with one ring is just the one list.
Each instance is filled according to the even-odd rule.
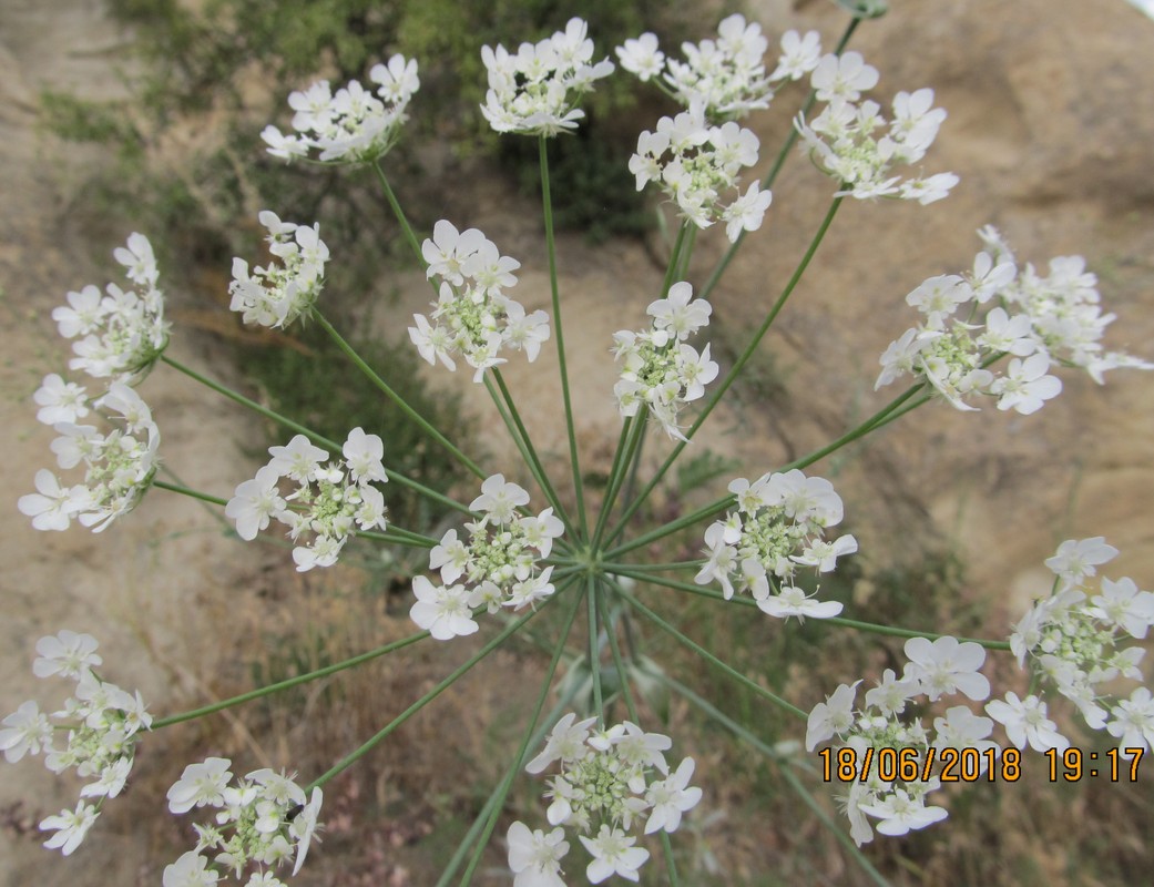
[[[385,529],[384,497],[372,485],[389,479],[381,463],[384,442],[355,427],[342,453],[343,460],[325,462],[328,452],[309,444],[304,434],[286,447],[269,447],[272,459],[254,479],[237,487],[225,507],[240,537],[255,539],[272,517],[288,527],[293,542],[312,535],[310,543],[298,544],[292,551],[297,569],[304,573],[336,564],[355,528]],[[283,479],[297,484],[287,495],[280,494]]]

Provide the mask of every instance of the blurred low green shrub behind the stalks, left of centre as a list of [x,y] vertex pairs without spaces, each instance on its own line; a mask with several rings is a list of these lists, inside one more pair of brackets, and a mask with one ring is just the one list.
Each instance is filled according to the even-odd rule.
[[[466,477],[443,449],[425,437],[400,410],[349,364],[322,330],[309,327],[297,338],[300,348],[247,348],[241,370],[261,387],[269,405],[332,440],[344,440],[358,425],[385,444],[384,463],[439,492]],[[419,374],[412,349],[374,338],[353,338],[365,360],[434,426],[467,438],[471,420],[455,394],[430,390]],[[270,444],[283,445],[284,432],[270,428]],[[390,523],[422,531],[440,512],[399,484],[385,487]]]

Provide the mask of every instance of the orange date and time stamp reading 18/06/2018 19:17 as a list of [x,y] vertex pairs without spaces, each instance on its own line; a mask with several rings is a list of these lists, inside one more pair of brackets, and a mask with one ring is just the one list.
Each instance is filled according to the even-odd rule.
[[[1109,748],[1089,752],[1081,748],[1049,748],[1044,752],[1050,782],[1079,782],[1107,778],[1136,782],[1145,748]],[[825,782],[864,782],[870,775],[883,782],[1018,782],[1021,778],[1021,752],[1017,748],[823,748],[822,778]]]

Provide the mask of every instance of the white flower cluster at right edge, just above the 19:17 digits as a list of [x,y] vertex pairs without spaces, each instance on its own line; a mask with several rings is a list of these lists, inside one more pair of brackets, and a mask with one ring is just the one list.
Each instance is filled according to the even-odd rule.
[[[1129,577],[1102,577],[1093,595],[1091,579],[1096,567],[1118,550],[1101,536],[1070,539],[1046,561],[1057,576],[1054,592],[1039,601],[1010,635],[1018,664],[1031,670],[1066,696],[1094,730],[1106,729],[1125,748],[1154,747],[1154,701],[1145,686],[1130,699],[1118,699],[1109,685],[1118,677],[1142,680],[1138,663],[1145,653],[1126,640],[1142,640],[1154,625],[1154,594],[1142,591]],[[1093,596],[1092,596],[1093,595]],[[1010,693],[1005,702],[990,702],[988,714],[1006,725],[1006,733],[1021,748],[1065,748],[1069,741],[1046,718],[1046,703],[1037,696],[1019,700]],[[1129,755],[1127,755],[1129,756]]]

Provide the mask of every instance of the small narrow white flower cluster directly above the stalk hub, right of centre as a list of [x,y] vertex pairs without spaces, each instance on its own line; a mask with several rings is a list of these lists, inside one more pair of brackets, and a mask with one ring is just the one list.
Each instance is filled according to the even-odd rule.
[[677,413],[704,395],[705,386],[718,375],[707,344],[700,353],[685,344],[689,336],[709,326],[713,312],[704,299],[691,300],[692,295],[688,283],[675,283],[666,298],[646,308],[653,318],[651,329],[613,334],[613,353],[621,364],[621,379],[613,394],[621,415],[636,416],[644,404],[666,433],[680,440],[685,437],[677,426]]

